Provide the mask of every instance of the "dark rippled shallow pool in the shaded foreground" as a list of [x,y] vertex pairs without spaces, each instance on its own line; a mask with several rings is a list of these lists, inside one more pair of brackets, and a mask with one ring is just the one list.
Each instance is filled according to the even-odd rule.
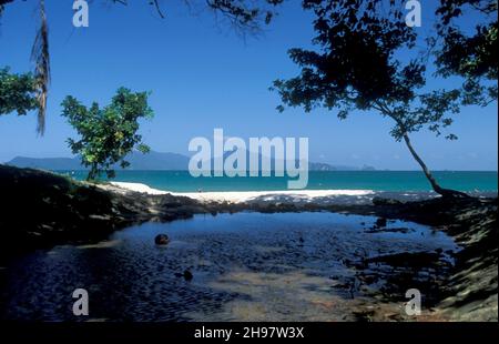
[[[430,300],[458,246],[424,225],[393,221],[388,230],[404,230],[378,232],[375,222],[324,212],[145,223],[95,245],[58,246],[13,262],[0,274],[0,317],[342,321],[376,311],[404,318],[405,291],[419,287]],[[159,233],[172,242],[154,245]],[[444,253],[431,266],[368,261],[438,249]],[[185,270],[191,281],[181,276]],[[89,292],[89,317],[72,314],[79,287]]]

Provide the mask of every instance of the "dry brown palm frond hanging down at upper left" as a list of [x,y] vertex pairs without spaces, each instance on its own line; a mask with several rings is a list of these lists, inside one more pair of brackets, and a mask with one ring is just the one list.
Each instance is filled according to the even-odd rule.
[[38,29],[31,50],[31,60],[34,62],[34,82],[38,100],[37,132],[43,135],[45,131],[47,98],[49,95],[50,84],[49,26],[47,23],[43,0],[40,0],[40,28]]

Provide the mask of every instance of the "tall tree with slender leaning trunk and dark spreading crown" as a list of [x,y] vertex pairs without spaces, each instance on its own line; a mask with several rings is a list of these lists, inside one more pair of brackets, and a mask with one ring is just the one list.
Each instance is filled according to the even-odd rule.
[[[309,112],[320,107],[336,110],[339,119],[354,110],[389,118],[390,134],[406,143],[432,189],[444,196],[466,196],[441,188],[410,141],[411,133],[425,128],[440,135],[462,104],[477,102],[459,85],[427,84],[427,64],[438,37],[418,38],[418,31],[405,23],[401,0],[304,0],[303,7],[315,16],[316,49],[289,50],[302,72],[274,82],[272,89],[283,101],[277,109],[303,107]],[[457,139],[452,133],[446,138]]]

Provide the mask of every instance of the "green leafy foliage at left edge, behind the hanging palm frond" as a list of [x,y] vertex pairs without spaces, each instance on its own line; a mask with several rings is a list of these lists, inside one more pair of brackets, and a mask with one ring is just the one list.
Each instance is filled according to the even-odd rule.
[[17,112],[19,115],[37,109],[35,84],[31,73],[10,73],[0,69],[0,115]]

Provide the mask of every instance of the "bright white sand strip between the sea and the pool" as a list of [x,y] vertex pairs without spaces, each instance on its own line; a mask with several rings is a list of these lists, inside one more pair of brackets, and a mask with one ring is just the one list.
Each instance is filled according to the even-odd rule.
[[374,195],[371,190],[285,190],[285,191],[226,191],[226,192],[186,192],[175,193],[152,189],[140,183],[112,182],[113,185],[130,191],[147,194],[166,194],[187,196],[202,202],[289,202],[289,203],[329,203],[338,196],[364,198]]

